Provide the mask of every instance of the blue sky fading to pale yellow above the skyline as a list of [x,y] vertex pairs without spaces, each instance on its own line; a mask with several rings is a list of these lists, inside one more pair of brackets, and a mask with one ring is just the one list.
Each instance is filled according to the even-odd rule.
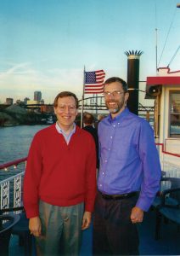
[[35,90],[47,104],[62,90],[82,98],[84,67],[127,80],[129,50],[143,51],[145,81],[156,75],[156,45],[158,67],[180,70],[178,1],[0,0],[0,103]]

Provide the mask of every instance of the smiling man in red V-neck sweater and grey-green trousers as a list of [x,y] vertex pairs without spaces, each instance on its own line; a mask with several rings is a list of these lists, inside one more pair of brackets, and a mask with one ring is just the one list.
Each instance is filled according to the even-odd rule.
[[74,122],[75,94],[59,93],[53,107],[57,123],[37,132],[28,154],[25,212],[37,254],[78,255],[96,194],[95,144]]

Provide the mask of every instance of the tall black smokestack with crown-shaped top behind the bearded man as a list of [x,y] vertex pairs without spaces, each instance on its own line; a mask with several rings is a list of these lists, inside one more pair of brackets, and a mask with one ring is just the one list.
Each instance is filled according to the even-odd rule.
[[127,108],[138,115],[138,81],[139,81],[139,59],[143,54],[141,50],[126,51],[127,55],[127,84],[129,87],[129,99]]

